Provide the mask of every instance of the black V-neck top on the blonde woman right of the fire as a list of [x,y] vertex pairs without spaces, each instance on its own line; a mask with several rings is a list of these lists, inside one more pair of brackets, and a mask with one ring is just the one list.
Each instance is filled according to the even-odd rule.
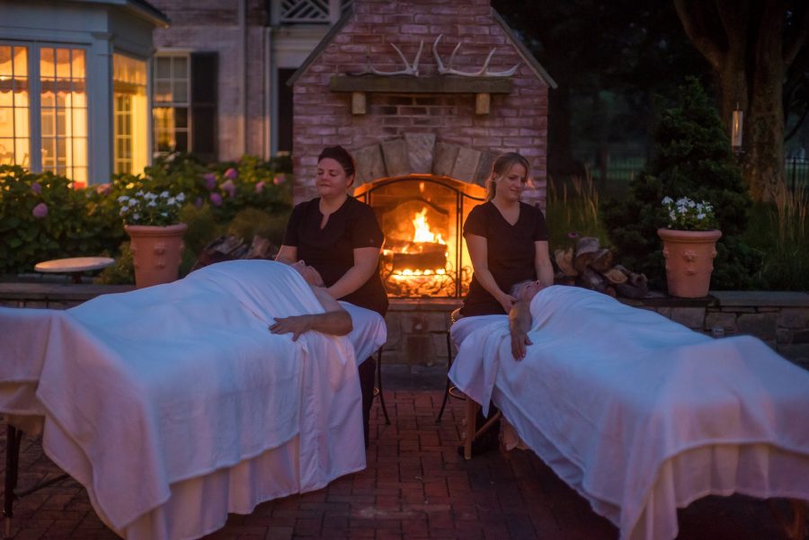
[[[485,202],[469,212],[464,223],[464,237],[467,235],[483,236],[486,239],[486,262],[494,281],[503,292],[508,293],[520,281],[537,279],[534,243],[547,241],[545,216],[539,208],[520,202],[520,217],[517,218],[517,223],[511,225],[493,202]],[[500,302],[483,288],[473,273],[461,314],[470,316],[504,313]]]

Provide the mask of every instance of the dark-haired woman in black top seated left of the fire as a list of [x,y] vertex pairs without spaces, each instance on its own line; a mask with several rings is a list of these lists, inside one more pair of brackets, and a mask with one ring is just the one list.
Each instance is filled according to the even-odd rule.
[[[348,195],[354,172],[354,160],[342,146],[324,148],[317,157],[315,181],[320,197],[302,202],[292,210],[276,260],[288,264],[306,261],[320,272],[333,298],[384,317],[387,294],[379,277],[379,251],[384,236],[373,209]],[[366,447],[376,367],[373,358],[360,364]]]

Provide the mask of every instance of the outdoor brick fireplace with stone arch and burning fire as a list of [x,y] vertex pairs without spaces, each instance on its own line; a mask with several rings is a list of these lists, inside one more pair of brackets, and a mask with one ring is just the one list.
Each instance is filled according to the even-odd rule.
[[387,359],[446,359],[441,332],[471,277],[463,220],[507,151],[529,159],[524,199],[545,207],[556,84],[489,0],[354,0],[290,84],[295,202],[316,197],[324,146],[351,150],[354,196],[386,233]]

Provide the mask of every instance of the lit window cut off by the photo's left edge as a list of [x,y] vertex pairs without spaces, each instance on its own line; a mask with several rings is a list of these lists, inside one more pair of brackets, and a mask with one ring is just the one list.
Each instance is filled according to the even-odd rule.
[[28,48],[0,45],[0,164],[30,166]]

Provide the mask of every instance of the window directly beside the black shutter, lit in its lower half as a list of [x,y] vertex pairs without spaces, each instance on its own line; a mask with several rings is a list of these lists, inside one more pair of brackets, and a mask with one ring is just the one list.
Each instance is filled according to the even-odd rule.
[[189,55],[155,58],[152,116],[155,151],[189,151],[190,62]]

